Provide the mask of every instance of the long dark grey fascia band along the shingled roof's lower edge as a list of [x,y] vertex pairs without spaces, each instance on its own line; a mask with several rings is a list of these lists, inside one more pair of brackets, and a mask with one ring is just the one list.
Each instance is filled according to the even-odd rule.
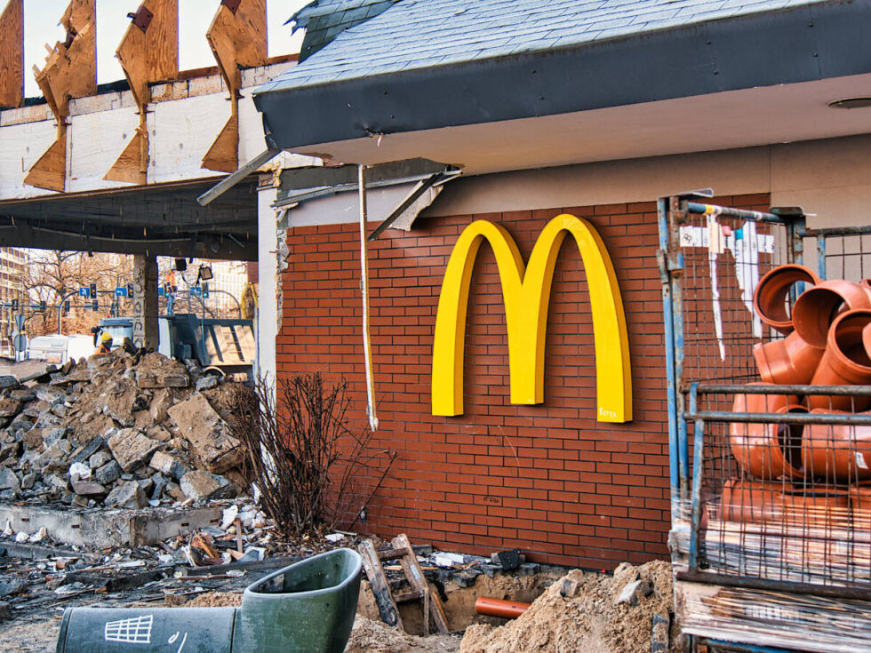
[[[374,29],[403,5],[355,29]],[[871,3],[832,0],[316,84],[305,83],[306,62],[288,74],[295,77],[261,87],[254,101],[271,141],[293,149],[859,75],[871,72],[869,24]],[[342,44],[309,61],[323,65],[318,58],[334,49],[341,57]]]

